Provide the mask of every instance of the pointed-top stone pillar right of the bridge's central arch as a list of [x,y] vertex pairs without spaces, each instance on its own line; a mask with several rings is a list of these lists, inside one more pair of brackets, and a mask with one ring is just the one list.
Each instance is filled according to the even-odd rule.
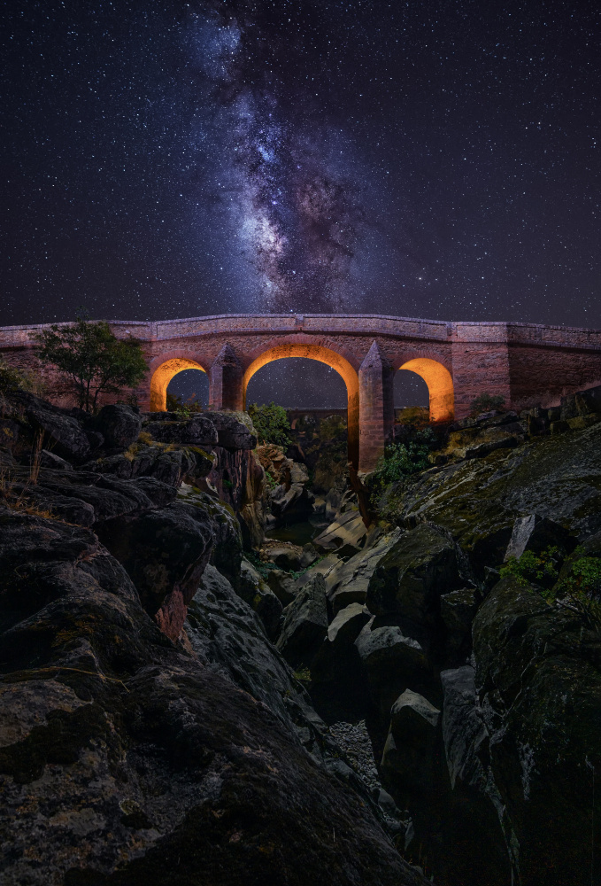
[[359,367],[359,470],[374,470],[395,423],[394,370],[377,342]]

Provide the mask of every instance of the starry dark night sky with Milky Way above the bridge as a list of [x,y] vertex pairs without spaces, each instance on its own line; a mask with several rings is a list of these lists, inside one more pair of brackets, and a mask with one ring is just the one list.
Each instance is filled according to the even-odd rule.
[[0,323],[83,306],[601,326],[599,17],[5,3]]

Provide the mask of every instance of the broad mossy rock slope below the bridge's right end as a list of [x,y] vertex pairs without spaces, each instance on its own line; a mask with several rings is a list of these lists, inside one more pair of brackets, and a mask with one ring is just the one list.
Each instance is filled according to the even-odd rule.
[[403,525],[442,526],[482,578],[503,563],[516,517],[537,514],[576,536],[601,527],[601,424],[533,439],[480,460],[426,471],[397,501]]

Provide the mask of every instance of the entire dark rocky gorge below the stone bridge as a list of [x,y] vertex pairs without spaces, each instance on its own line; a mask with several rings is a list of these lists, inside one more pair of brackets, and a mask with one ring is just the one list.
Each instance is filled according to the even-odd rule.
[[601,882],[601,391],[360,489],[243,413],[0,444],[3,882]]

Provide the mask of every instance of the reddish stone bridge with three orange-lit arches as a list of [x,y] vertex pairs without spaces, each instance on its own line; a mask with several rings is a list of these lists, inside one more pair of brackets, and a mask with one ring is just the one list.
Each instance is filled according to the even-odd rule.
[[[327,363],[348,393],[349,455],[370,470],[394,423],[393,378],[416,372],[428,385],[433,422],[460,418],[478,394],[501,394],[509,408],[555,406],[563,395],[601,384],[601,330],[535,323],[444,323],[381,315],[217,315],[158,323],[111,323],[138,338],[148,375],[135,392],[141,408],[166,408],[167,385],[202,369],[210,408],[243,409],[250,378],[266,363],[308,357]],[[34,366],[30,333],[0,328],[0,353]],[[58,388],[56,398],[58,400]]]

